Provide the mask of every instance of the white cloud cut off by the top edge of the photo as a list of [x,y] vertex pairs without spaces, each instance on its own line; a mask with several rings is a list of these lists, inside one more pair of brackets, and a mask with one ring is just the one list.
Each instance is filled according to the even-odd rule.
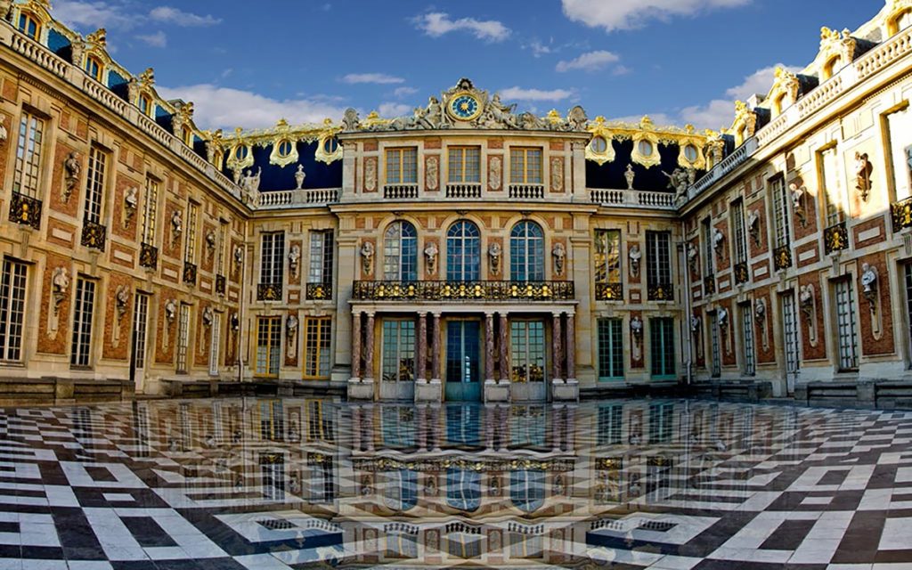
[[606,32],[642,27],[649,20],[695,16],[714,8],[751,4],[751,0],[561,0],[564,15]]

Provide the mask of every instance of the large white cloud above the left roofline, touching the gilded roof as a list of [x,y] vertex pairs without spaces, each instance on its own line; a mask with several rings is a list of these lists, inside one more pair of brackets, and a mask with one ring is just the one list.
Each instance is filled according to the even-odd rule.
[[234,130],[272,127],[285,118],[292,124],[339,119],[344,109],[314,98],[274,99],[252,91],[202,83],[177,88],[157,86],[161,97],[195,103],[193,115],[201,129]]

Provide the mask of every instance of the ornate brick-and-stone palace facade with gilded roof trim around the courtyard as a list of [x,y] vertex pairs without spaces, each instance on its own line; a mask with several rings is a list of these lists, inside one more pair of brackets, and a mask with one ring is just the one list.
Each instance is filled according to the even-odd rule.
[[912,396],[912,1],[730,129],[412,117],[205,131],[47,0],[0,2],[0,391]]

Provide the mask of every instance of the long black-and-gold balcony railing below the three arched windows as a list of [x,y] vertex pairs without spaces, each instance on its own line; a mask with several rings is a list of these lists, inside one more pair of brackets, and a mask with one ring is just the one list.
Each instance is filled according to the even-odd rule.
[[356,301],[571,301],[572,281],[356,281]]

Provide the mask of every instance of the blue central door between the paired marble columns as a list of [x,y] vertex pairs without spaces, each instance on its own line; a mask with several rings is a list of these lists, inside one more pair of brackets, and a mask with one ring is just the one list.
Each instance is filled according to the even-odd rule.
[[447,401],[478,401],[482,396],[481,338],[478,321],[447,323]]

